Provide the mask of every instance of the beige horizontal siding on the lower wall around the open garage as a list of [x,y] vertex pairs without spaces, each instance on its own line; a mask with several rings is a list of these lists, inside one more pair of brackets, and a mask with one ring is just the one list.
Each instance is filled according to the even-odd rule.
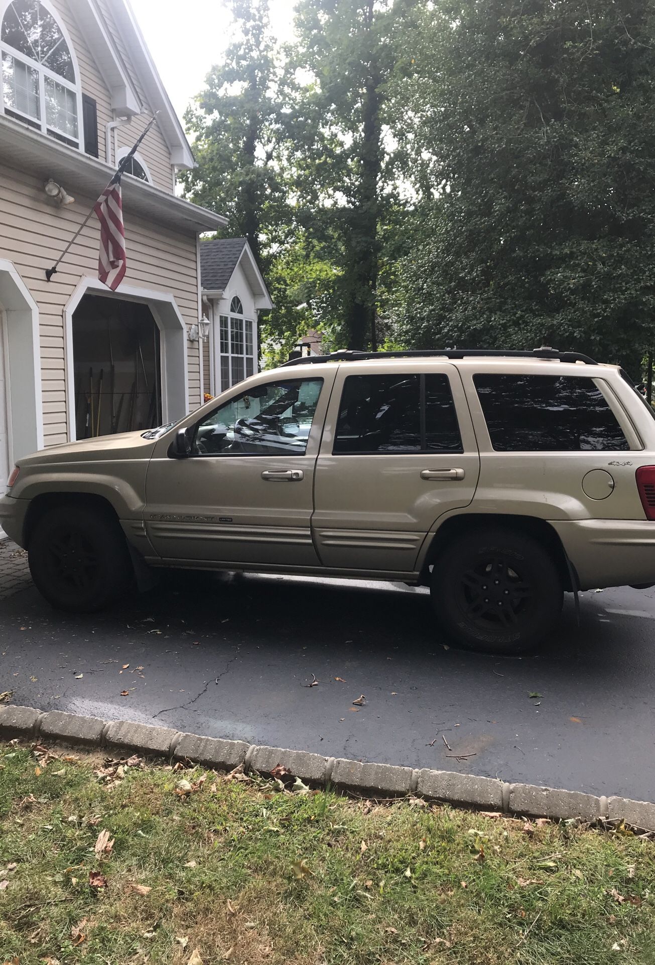
[[[97,276],[99,228],[92,218],[57,274],[50,282],[45,280],[45,269],[57,260],[95,201],[77,192],[75,196],[74,205],[55,207],[46,201],[41,180],[0,169],[0,258],[13,262],[39,306],[46,446],[66,442],[67,437],[64,308],[82,277]],[[196,235],[133,218],[129,210],[123,214],[124,284],[170,292],[185,324],[193,324],[197,321]],[[186,345],[189,404],[194,408],[200,403],[198,343]]]

